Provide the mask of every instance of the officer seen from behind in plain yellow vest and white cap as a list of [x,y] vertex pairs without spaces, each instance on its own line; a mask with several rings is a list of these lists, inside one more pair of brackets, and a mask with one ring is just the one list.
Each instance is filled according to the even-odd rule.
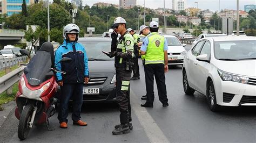
[[164,107],[169,106],[167,91],[165,85],[165,72],[168,69],[167,59],[167,40],[158,34],[158,23],[150,23],[150,34],[143,40],[140,51],[142,55],[145,55],[145,79],[146,79],[146,91],[147,100],[145,104],[141,106],[146,108],[153,108],[154,102],[154,77],[156,78],[157,91],[160,102]]

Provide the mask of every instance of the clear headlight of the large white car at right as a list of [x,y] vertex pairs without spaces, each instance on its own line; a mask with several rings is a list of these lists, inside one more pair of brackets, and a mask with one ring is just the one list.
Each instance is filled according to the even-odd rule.
[[223,81],[233,81],[233,82],[240,82],[240,83],[248,83],[249,77],[235,75],[231,73],[227,73],[223,70],[218,69],[218,74]]

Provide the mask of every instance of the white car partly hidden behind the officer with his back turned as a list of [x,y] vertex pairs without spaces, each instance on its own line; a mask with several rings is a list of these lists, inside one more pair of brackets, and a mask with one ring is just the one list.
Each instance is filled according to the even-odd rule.
[[183,65],[186,44],[181,44],[179,39],[173,35],[163,34],[168,43],[168,65]]

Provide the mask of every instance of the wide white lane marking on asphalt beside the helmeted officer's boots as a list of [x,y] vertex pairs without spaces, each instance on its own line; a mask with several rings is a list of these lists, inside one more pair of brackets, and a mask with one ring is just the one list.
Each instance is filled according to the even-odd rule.
[[150,116],[149,112],[140,106],[139,98],[134,96],[134,92],[131,92],[131,107],[134,114],[139,119],[139,123],[143,126],[144,131],[149,138],[150,142],[170,142],[161,131],[156,121]]

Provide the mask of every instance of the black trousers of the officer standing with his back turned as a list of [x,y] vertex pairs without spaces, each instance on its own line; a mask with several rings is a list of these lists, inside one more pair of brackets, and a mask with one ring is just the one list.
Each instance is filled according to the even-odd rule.
[[147,103],[153,104],[154,102],[154,77],[156,78],[157,91],[159,101],[163,104],[168,103],[167,91],[165,85],[164,64],[147,64],[144,66],[146,78],[146,91]]

